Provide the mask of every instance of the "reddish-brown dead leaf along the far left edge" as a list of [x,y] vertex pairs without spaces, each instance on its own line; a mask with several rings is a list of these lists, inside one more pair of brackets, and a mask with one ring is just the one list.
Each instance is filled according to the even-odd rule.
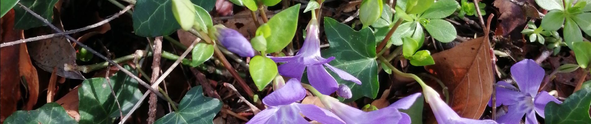
[[[22,30],[14,30],[14,10],[2,16],[0,25],[0,42],[17,41],[21,38]],[[21,98],[19,48],[13,45],[0,49],[0,123],[17,111],[17,102]]]

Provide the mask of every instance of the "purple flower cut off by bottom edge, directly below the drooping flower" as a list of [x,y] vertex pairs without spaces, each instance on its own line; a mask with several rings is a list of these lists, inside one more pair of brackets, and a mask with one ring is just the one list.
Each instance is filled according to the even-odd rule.
[[320,123],[344,123],[329,110],[315,105],[296,103],[304,99],[304,96],[306,96],[306,89],[297,79],[290,79],[282,88],[262,99],[269,108],[262,110],[246,123],[309,123],[300,113]]

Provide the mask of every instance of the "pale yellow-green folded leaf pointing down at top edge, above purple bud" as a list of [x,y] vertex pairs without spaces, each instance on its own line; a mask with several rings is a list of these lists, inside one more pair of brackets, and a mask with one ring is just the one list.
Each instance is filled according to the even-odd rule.
[[195,6],[189,0],[172,0],[173,15],[184,31],[189,31],[196,24]]

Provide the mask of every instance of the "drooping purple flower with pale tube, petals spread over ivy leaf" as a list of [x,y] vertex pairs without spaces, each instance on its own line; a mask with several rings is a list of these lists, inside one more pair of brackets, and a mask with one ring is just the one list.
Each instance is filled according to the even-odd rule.
[[297,52],[296,56],[269,56],[269,58],[273,59],[275,62],[287,62],[278,66],[279,73],[283,76],[301,80],[304,69],[307,68],[310,85],[314,86],[314,88],[324,95],[329,95],[330,93],[335,92],[338,88],[335,78],[324,69],[324,66],[335,72],[340,78],[361,85],[361,81],[355,78],[355,76],[328,64],[335,59],[335,57],[325,59],[320,56],[320,39],[318,38],[318,33],[318,23],[316,19],[312,19],[307,28],[304,45],[301,47],[300,51]]

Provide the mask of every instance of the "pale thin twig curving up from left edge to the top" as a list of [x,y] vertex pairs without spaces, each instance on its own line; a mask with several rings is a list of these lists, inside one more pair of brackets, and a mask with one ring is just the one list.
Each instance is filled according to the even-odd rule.
[[[21,39],[21,40],[13,41],[13,42],[2,43],[2,44],[0,44],[0,48],[1,47],[4,47],[4,46],[11,46],[11,45],[19,44],[19,43],[25,43],[25,42],[31,42],[31,41],[38,41],[38,40],[41,40],[41,39],[53,38],[55,36],[63,36],[63,35],[68,35],[70,33],[76,33],[76,32],[86,31],[87,29],[96,28],[97,26],[106,24],[107,22],[112,21],[113,19],[119,17],[119,15],[121,15],[121,14],[125,13],[126,11],[128,11],[129,9],[131,9],[132,6],[133,5],[128,5],[122,11],[119,11],[117,14],[112,15],[111,17],[109,17],[109,18],[107,18],[107,19],[105,19],[103,21],[100,21],[100,22],[98,22],[96,24],[85,26],[84,28],[73,29],[73,30],[66,31],[66,32],[53,33],[53,34],[50,34],[50,35],[41,35],[41,36],[37,36],[37,37],[34,37],[34,38]],[[23,7],[23,8],[25,8],[25,7]]]

